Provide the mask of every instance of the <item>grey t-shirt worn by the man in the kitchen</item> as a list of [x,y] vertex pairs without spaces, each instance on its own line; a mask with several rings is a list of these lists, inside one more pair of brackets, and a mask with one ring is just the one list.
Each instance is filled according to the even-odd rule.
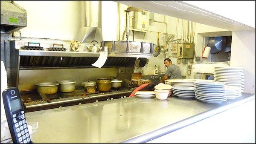
[[168,75],[168,79],[181,79],[182,78],[179,66],[176,66],[174,64],[167,67],[165,75]]

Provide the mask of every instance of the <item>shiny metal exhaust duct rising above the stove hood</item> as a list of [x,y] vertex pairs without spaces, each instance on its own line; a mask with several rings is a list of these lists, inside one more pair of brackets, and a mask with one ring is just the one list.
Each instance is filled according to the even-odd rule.
[[93,40],[102,41],[102,2],[80,1],[81,28],[77,40],[81,43],[91,43]]

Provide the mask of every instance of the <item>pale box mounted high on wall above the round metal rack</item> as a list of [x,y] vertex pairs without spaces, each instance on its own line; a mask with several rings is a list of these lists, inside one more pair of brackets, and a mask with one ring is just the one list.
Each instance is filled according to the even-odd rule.
[[149,12],[134,12],[134,29],[148,30]]

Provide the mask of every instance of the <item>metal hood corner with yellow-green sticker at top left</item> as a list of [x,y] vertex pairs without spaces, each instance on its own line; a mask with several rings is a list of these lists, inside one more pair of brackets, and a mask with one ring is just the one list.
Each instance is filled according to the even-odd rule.
[[1,33],[12,33],[26,26],[26,10],[13,1],[1,1]]

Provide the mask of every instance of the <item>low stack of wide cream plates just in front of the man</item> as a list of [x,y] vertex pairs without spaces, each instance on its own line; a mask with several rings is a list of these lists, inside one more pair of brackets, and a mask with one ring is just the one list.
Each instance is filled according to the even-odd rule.
[[169,84],[171,86],[194,86],[195,80],[188,79],[168,79],[165,80],[165,84]]

